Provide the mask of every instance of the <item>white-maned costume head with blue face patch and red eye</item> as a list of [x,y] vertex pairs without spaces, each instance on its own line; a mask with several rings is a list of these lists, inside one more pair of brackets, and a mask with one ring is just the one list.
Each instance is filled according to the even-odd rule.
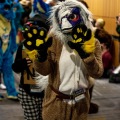
[[85,24],[88,28],[92,28],[92,14],[80,2],[76,0],[67,0],[58,2],[52,7],[51,16],[51,32],[53,32],[61,40],[66,36],[70,39],[72,29],[78,24]]

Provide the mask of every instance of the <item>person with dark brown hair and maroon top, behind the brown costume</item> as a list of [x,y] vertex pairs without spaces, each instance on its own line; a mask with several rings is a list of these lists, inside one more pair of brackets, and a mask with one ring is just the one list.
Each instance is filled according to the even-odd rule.
[[109,78],[110,71],[113,69],[113,57],[111,54],[112,36],[103,29],[97,29],[95,37],[100,41],[102,49],[102,61],[104,72],[102,77]]

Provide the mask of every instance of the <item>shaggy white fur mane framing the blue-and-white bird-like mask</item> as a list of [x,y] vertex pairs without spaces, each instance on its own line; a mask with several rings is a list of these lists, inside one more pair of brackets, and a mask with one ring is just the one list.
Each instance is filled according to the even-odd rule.
[[49,17],[49,21],[51,23],[51,30],[50,33],[54,34],[55,36],[57,36],[61,41],[65,41],[67,42],[68,40],[72,39],[71,35],[69,34],[64,34],[62,33],[59,24],[58,24],[58,19],[59,16],[56,14],[59,12],[59,10],[63,9],[63,12],[66,11],[69,8],[73,8],[73,7],[78,7],[81,9],[80,14],[82,15],[83,21],[85,23],[85,25],[92,29],[92,13],[81,3],[78,2],[76,0],[67,0],[65,2],[58,2],[57,5],[55,5],[54,7],[52,7],[51,9],[51,15]]

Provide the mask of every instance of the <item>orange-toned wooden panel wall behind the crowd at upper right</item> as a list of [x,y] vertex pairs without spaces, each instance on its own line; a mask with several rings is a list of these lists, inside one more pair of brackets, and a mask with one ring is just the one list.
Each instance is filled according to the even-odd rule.
[[[105,29],[112,35],[118,36],[116,32],[116,16],[120,13],[120,0],[85,0],[89,5],[89,10],[93,13],[93,18],[103,18]],[[116,67],[120,64],[120,42],[114,39],[114,60]]]

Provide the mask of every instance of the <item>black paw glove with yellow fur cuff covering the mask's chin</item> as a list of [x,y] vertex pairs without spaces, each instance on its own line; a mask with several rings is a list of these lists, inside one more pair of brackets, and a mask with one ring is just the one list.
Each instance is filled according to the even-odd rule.
[[71,49],[75,49],[81,58],[86,58],[94,52],[94,34],[84,24],[79,24],[73,28],[72,38],[72,41],[68,41],[68,45]]

